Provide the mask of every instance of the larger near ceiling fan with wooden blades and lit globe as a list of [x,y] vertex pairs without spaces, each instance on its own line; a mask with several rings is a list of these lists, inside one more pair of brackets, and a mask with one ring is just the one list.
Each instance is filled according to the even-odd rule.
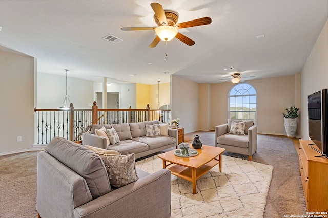
[[212,19],[210,17],[202,17],[194,19],[192,21],[177,23],[179,15],[177,12],[172,10],[163,10],[163,7],[159,3],[151,3],[154,14],[154,20],[158,27],[122,27],[121,30],[155,30],[156,37],[154,41],[149,45],[150,48],[156,47],[160,40],[170,41],[174,37],[179,39],[181,42],[192,46],[195,41],[188,38],[187,36],[178,32],[178,29],[202,26],[211,24]]

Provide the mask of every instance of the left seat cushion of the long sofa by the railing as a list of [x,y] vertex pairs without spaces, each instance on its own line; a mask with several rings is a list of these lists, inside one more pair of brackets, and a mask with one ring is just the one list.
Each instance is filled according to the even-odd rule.
[[148,145],[134,140],[121,140],[115,145],[109,145],[107,149],[118,151],[121,154],[140,153],[148,151]]

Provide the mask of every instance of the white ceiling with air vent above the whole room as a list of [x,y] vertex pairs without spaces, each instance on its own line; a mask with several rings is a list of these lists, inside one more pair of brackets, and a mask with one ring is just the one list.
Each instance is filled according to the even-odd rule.
[[[179,30],[195,45],[174,38],[165,52],[162,41],[148,48],[153,30],[120,30],[155,27],[151,2],[0,0],[0,45],[36,57],[43,73],[64,76],[69,69],[71,77],[144,84],[175,74],[219,83],[236,71],[255,78],[300,72],[328,17],[328,0],[158,0],[179,13],[178,23],[212,18],[210,25]],[[107,42],[108,34],[123,41]]]

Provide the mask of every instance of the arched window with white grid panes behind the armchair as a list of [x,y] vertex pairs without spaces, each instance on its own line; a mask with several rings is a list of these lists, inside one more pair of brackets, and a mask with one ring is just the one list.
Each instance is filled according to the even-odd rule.
[[256,91],[247,83],[239,83],[229,92],[229,118],[253,120],[256,124]]

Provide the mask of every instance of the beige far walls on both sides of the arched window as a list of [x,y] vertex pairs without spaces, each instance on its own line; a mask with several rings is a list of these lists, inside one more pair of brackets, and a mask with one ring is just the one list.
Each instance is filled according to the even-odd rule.
[[[258,133],[286,135],[282,113],[285,108],[296,105],[299,93],[295,92],[298,84],[295,75],[249,80],[245,83],[252,85],[257,93]],[[172,118],[184,117],[179,118],[187,133],[214,130],[216,125],[227,123],[228,95],[233,86],[232,83],[196,84],[173,76]],[[191,121],[197,119],[190,117],[198,117],[198,122]],[[190,123],[192,128],[189,127]]]

